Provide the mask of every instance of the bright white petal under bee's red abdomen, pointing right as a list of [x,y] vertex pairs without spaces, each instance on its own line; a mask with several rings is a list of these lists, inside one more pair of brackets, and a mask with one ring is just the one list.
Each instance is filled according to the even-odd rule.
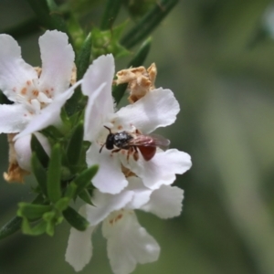
[[138,161],[134,161],[132,157],[129,161],[125,157],[120,159],[124,166],[138,174],[142,183],[151,189],[159,188],[162,184],[173,184],[175,174],[184,174],[192,164],[189,154],[176,149],[165,152],[159,150],[150,161],[145,161],[141,156]]

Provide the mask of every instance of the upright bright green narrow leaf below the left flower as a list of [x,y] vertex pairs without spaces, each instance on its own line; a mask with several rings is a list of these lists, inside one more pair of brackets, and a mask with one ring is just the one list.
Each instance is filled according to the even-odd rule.
[[52,148],[47,171],[47,195],[53,203],[56,203],[61,197],[61,158],[61,148],[57,143]]

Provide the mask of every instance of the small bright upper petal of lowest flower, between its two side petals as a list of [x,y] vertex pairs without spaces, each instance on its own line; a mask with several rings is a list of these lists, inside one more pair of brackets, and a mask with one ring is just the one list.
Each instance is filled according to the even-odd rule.
[[145,205],[150,200],[150,195],[153,190],[145,187],[142,184],[142,180],[138,177],[129,177],[128,178],[129,185],[126,190],[132,190],[134,195],[132,197],[132,201],[126,205],[128,209],[138,209],[142,205]]

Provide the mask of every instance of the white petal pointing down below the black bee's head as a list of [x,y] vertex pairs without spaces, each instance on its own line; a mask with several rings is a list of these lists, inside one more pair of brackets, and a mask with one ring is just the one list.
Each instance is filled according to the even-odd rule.
[[121,163],[117,153],[111,154],[108,150],[102,150],[100,146],[93,142],[87,152],[87,163],[89,166],[99,164],[100,169],[92,179],[92,184],[100,192],[109,194],[118,194],[128,185],[128,181],[121,173]]

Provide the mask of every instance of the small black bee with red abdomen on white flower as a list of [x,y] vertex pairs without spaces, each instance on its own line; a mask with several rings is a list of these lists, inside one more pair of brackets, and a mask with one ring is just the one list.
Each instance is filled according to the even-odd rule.
[[133,154],[134,160],[138,160],[138,150],[142,154],[145,161],[150,161],[156,153],[157,147],[167,148],[170,141],[158,135],[143,135],[141,132],[116,132],[112,133],[111,129],[104,126],[110,133],[107,136],[106,142],[101,146],[112,150],[112,153],[118,153],[121,150],[127,150],[129,159],[130,154]]

